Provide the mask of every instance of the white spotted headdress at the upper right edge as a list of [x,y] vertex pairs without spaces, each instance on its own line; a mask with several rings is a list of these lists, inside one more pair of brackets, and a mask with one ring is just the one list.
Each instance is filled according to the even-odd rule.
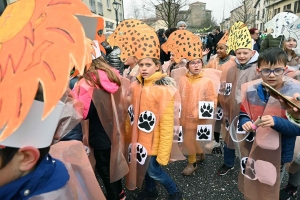
[[281,12],[275,15],[270,21],[265,24],[265,29],[273,29],[271,33],[273,38],[283,35],[283,31],[299,17],[294,13]]

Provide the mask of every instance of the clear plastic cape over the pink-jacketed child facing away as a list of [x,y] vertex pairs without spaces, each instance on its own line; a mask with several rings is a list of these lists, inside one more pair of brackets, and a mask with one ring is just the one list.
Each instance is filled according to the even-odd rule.
[[[122,81],[121,81],[122,82]],[[108,93],[102,89],[89,86],[84,79],[81,79],[75,87],[75,93],[83,88],[88,91],[96,107],[99,119],[105,132],[111,141],[111,158],[110,159],[110,180],[115,182],[122,179],[129,171],[126,159],[124,157],[124,134],[125,134],[125,104],[122,87],[114,94]],[[110,114],[108,114],[110,113]],[[88,144],[88,123],[83,123],[84,144]],[[92,159],[93,160],[93,159]]]

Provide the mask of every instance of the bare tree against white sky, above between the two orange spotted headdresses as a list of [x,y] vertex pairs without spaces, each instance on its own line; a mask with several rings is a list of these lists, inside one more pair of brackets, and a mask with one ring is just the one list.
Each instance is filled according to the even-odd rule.
[[188,5],[188,0],[148,0],[145,9],[156,14],[156,18],[163,20],[168,28],[175,27],[179,21],[188,19],[187,11],[182,9]]

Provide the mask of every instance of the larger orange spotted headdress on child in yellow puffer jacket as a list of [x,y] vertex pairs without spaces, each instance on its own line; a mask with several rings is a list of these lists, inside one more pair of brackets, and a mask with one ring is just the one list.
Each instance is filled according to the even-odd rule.
[[160,56],[159,40],[154,29],[139,20],[123,21],[107,42],[121,49],[122,62],[131,56],[138,60],[146,57],[159,59]]

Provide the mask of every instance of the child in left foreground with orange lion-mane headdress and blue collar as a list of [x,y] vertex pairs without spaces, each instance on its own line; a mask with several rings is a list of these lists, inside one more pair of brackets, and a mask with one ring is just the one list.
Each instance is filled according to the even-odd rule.
[[[51,149],[64,154],[65,160],[49,154],[66,106],[61,98],[69,72],[73,67],[83,72],[92,59],[92,46],[86,43],[78,19],[82,15],[92,18],[80,0],[68,4],[60,0],[20,0],[8,5],[1,15],[0,65],[6,72],[0,80],[1,200],[104,198],[99,185],[94,185],[94,175],[86,181],[85,174],[93,174],[88,163],[84,168],[74,165],[70,169],[73,161],[80,159],[78,154],[65,154],[55,145]],[[16,28],[16,24],[22,26]],[[14,49],[16,44],[20,48]],[[7,60],[14,64],[7,64]],[[76,113],[74,109],[69,111]],[[86,158],[82,144],[79,147],[77,152],[83,152]],[[78,184],[74,171],[85,188]]]

